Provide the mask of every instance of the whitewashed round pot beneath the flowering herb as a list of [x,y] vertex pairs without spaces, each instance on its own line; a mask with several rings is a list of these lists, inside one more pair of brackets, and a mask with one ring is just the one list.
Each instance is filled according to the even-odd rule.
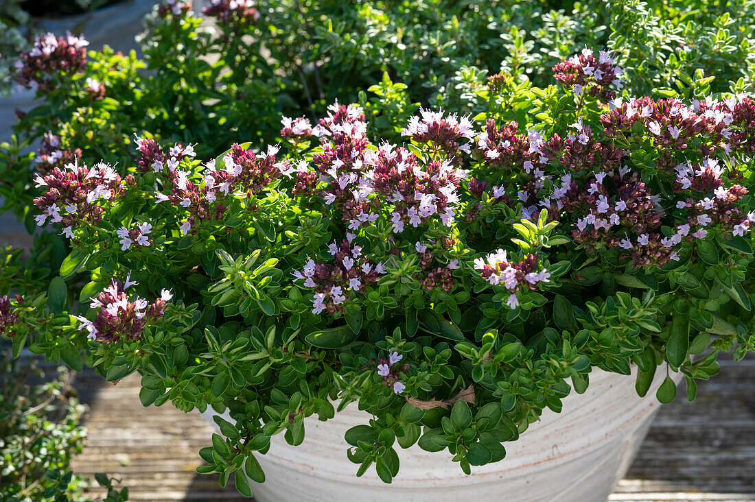
[[[267,481],[252,483],[254,499],[273,500],[507,500],[599,502],[624,477],[660,403],[655,390],[658,371],[646,398],[634,390],[631,377],[593,369],[584,394],[563,400],[560,414],[545,410],[516,442],[504,443],[506,458],[498,464],[472,467],[472,475],[451,462],[448,451],[430,453],[417,445],[397,448],[399,476],[386,485],[374,473],[355,476],[346,457],[344,433],[368,414],[350,405],[334,419],[306,420],[306,438],[296,448],[273,437],[270,451],[258,455]],[[215,426],[208,409],[202,414]],[[227,414],[225,418],[229,418]],[[217,428],[217,426],[216,426]]]

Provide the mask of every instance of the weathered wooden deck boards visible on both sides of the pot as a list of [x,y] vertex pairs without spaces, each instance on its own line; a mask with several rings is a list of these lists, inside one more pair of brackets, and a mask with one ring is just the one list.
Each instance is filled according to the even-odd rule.
[[[755,501],[755,358],[722,367],[700,384],[694,403],[680,392],[661,408],[611,502]],[[122,479],[131,500],[245,500],[233,488],[221,489],[217,477],[194,472],[211,434],[198,414],[169,404],[143,408],[133,375],[113,387],[85,372],[75,387],[91,408],[77,473]]]

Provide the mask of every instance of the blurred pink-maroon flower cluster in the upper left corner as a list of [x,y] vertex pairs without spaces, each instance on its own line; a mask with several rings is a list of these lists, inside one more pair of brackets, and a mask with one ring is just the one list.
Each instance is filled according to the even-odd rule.
[[58,85],[57,75],[73,75],[84,70],[89,45],[82,37],[68,33],[57,38],[52,33],[40,35],[31,51],[24,51],[16,62],[18,82],[26,88],[35,85],[44,92]]

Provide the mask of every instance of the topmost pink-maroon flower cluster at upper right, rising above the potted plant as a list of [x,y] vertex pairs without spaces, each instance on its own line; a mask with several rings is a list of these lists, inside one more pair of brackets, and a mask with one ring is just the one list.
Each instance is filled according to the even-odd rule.
[[553,74],[558,82],[574,89],[578,97],[587,93],[601,100],[612,100],[616,92],[609,86],[613,85],[616,91],[624,87],[621,83],[624,71],[606,51],[599,51],[596,59],[592,49],[584,48],[580,54],[553,66]]

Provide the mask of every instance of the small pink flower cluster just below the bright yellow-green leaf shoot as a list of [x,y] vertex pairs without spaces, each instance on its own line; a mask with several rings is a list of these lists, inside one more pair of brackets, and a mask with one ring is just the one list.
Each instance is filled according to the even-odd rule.
[[535,290],[541,282],[550,282],[550,272],[544,268],[538,270],[538,257],[535,254],[528,254],[516,263],[509,261],[506,250],[499,249],[484,258],[476,258],[474,268],[480,271],[482,279],[494,286],[503,285],[510,292],[506,304],[512,310],[519,306],[516,291],[522,288]]

